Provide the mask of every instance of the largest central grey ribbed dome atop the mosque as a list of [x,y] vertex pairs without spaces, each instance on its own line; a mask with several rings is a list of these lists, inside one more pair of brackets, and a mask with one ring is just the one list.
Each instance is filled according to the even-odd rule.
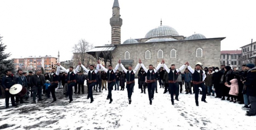
[[146,33],[145,38],[151,38],[152,36],[179,36],[179,33],[170,26],[163,26],[160,25],[152,30],[150,30],[148,33]]

